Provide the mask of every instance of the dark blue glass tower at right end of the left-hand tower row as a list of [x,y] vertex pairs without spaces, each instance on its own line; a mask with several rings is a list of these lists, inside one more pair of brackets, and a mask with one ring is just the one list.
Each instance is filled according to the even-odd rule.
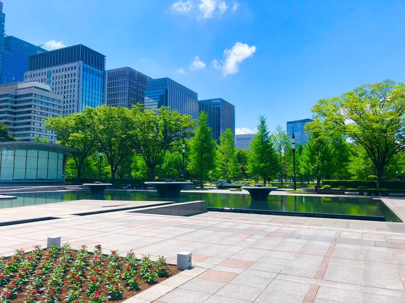
[[235,106],[222,98],[198,101],[198,112],[206,112],[208,126],[212,128],[213,138],[220,143],[219,138],[225,129],[230,128],[235,134]]

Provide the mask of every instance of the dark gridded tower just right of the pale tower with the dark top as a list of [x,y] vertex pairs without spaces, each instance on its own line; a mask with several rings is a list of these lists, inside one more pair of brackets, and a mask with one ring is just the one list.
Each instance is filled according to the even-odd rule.
[[152,78],[130,68],[121,67],[107,71],[107,106],[131,108],[144,103],[146,82]]

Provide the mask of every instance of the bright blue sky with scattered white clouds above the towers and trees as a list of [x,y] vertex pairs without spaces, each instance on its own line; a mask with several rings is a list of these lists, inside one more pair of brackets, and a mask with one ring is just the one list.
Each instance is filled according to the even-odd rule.
[[286,128],[319,98],[405,81],[403,0],[2,1],[6,34],[48,49],[82,43],[107,56],[107,69],[222,97],[237,128],[254,129],[259,115]]

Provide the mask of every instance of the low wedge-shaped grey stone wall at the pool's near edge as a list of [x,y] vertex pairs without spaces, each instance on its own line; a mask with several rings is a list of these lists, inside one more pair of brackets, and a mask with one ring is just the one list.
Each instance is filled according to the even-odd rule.
[[193,201],[185,203],[174,203],[163,206],[147,207],[131,213],[168,215],[168,216],[193,216],[201,213],[207,213],[206,201]]

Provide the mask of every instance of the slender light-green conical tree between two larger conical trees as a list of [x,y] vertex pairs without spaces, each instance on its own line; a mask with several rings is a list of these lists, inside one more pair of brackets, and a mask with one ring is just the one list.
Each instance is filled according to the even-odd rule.
[[235,178],[240,175],[240,170],[236,159],[235,142],[232,131],[227,128],[219,138],[217,145],[217,170],[220,178]]

